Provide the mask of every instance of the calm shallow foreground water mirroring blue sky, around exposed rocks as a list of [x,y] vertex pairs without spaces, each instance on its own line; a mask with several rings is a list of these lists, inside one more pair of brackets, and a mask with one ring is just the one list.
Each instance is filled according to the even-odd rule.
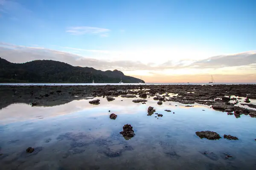
[[[90,105],[89,99],[53,107],[17,103],[0,110],[0,169],[256,169],[255,118],[236,119],[204,105],[157,105],[152,97],[145,105],[120,97],[99,99],[100,105]],[[163,117],[147,116],[149,106]],[[109,110],[118,115],[116,120],[109,119]],[[130,140],[119,134],[127,123],[136,134]],[[200,139],[195,132],[201,130],[239,140]],[[26,153],[27,147],[35,151]],[[225,159],[224,152],[233,157]]]

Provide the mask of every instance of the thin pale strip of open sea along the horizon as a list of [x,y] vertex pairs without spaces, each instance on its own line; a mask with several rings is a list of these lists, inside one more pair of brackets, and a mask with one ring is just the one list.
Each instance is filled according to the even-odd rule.
[[240,85],[256,83],[0,83],[0,85]]

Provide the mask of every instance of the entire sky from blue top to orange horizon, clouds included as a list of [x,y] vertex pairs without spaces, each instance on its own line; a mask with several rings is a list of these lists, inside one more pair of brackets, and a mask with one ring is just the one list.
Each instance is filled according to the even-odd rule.
[[0,57],[145,82],[256,82],[255,0],[0,0]]

